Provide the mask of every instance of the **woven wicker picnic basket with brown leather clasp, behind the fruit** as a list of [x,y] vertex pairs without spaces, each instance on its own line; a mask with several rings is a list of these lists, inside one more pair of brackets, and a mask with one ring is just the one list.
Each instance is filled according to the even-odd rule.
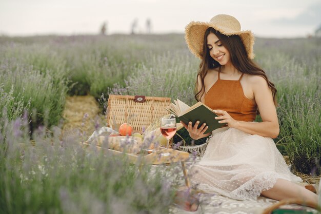
[[130,123],[133,131],[142,133],[143,127],[148,127],[169,113],[165,108],[170,103],[170,98],[110,94],[107,125],[115,127],[122,123]]

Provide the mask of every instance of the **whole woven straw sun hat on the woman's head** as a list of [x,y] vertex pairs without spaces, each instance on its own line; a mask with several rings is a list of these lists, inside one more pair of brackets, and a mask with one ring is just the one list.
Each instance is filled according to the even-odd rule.
[[185,40],[188,48],[198,58],[202,59],[205,31],[212,27],[224,35],[239,35],[248,53],[249,59],[254,58],[254,35],[251,31],[241,31],[240,24],[230,15],[219,14],[211,18],[210,22],[191,22],[185,27]]

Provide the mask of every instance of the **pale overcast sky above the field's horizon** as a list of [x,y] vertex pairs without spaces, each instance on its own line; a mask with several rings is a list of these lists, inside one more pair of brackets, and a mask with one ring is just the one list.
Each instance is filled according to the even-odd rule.
[[216,14],[238,19],[261,37],[302,37],[321,26],[321,0],[0,0],[0,34],[94,34],[107,22],[108,34],[146,31],[183,33],[191,21]]

